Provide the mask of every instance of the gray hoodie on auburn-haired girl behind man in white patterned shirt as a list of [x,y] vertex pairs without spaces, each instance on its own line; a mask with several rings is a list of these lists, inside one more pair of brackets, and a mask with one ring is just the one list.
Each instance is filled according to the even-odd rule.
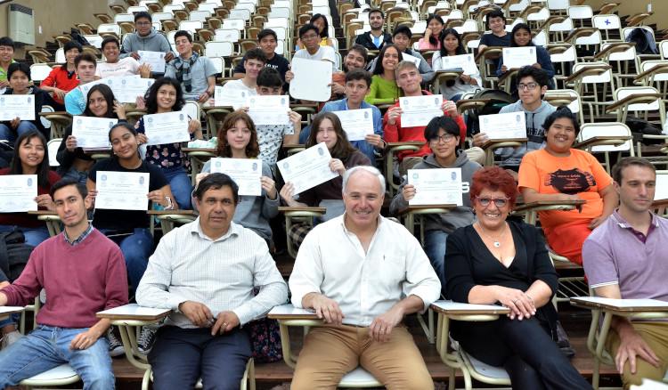
[[[208,160],[202,173],[211,172],[211,160]],[[266,177],[273,177],[272,168],[262,162],[262,175]],[[239,196],[239,205],[234,210],[234,217],[232,222],[239,223],[241,226],[257,232],[257,234],[265,240],[272,240],[272,228],[269,226],[269,220],[278,215],[278,207],[281,204],[281,197],[276,194],[276,199],[269,199],[266,196],[266,191],[262,190],[262,195],[254,196]],[[192,207],[197,210],[197,203],[192,199]]]

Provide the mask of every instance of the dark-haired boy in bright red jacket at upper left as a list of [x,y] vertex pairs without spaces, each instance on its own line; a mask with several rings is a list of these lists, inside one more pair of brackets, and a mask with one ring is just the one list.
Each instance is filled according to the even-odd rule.
[[39,87],[46,92],[53,93],[53,101],[57,103],[53,110],[56,111],[65,110],[65,95],[79,83],[74,60],[84,51],[84,47],[72,40],[65,44],[62,50],[65,52],[65,63],[61,67],[54,68],[39,84]]

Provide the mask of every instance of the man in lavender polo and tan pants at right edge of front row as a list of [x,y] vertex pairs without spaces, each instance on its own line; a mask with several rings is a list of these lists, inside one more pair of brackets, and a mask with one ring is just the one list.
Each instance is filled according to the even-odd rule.
[[[668,302],[668,221],[649,211],[655,167],[644,158],[622,158],[613,167],[619,208],[591,232],[582,265],[597,297]],[[606,348],[615,357],[625,389],[643,378],[658,382],[668,370],[668,321],[613,317]]]

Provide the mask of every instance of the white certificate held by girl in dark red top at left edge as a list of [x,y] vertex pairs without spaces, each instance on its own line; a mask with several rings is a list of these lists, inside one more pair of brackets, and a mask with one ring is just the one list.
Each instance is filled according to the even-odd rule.
[[0,213],[37,211],[37,175],[0,176]]

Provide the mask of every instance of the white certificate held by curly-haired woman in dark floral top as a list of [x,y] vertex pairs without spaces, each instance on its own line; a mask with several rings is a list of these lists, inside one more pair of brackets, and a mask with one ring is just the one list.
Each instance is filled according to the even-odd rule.
[[188,115],[182,111],[144,115],[143,129],[148,139],[147,145],[191,140],[191,134],[188,133]]

